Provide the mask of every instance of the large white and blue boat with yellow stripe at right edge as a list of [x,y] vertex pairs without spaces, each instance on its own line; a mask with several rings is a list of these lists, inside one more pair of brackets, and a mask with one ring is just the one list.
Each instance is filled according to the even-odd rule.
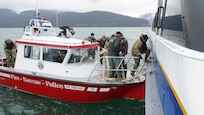
[[165,115],[203,114],[203,4],[202,0],[158,0],[149,44]]

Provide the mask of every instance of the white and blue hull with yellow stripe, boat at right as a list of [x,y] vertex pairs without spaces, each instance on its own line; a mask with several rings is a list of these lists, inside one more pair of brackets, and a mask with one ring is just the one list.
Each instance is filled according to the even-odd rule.
[[[202,113],[204,53],[182,47],[151,32],[157,60],[157,85],[165,114]],[[197,106],[199,104],[199,106]],[[170,106],[171,105],[171,106]],[[170,110],[169,108],[172,108]]]

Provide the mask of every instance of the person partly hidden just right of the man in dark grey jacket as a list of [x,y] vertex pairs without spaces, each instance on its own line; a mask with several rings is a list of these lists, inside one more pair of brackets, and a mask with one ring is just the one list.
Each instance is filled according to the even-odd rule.
[[[122,36],[120,37],[120,51],[121,51],[121,55],[122,57],[125,57],[128,53],[128,41],[125,39],[125,37]],[[125,60],[122,61],[122,65],[121,67],[123,69],[127,69],[127,64],[125,63]],[[123,71],[123,77],[126,78],[126,73],[127,71]]]

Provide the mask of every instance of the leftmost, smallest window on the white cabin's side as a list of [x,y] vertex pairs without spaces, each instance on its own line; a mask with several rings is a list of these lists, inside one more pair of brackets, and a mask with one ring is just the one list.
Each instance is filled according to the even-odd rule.
[[40,47],[37,46],[25,46],[24,57],[30,59],[40,59]]

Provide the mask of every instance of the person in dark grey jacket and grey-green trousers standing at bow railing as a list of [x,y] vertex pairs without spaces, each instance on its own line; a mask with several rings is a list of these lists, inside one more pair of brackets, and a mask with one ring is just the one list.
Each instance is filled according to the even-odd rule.
[[[109,40],[109,56],[116,56],[119,57],[120,52],[120,37],[122,36],[122,33],[120,31],[117,31],[115,36]],[[120,64],[119,58],[110,58],[110,69],[117,69]],[[109,77],[115,77],[114,73],[117,75],[117,80],[121,81],[123,80],[121,71],[109,71]]]

